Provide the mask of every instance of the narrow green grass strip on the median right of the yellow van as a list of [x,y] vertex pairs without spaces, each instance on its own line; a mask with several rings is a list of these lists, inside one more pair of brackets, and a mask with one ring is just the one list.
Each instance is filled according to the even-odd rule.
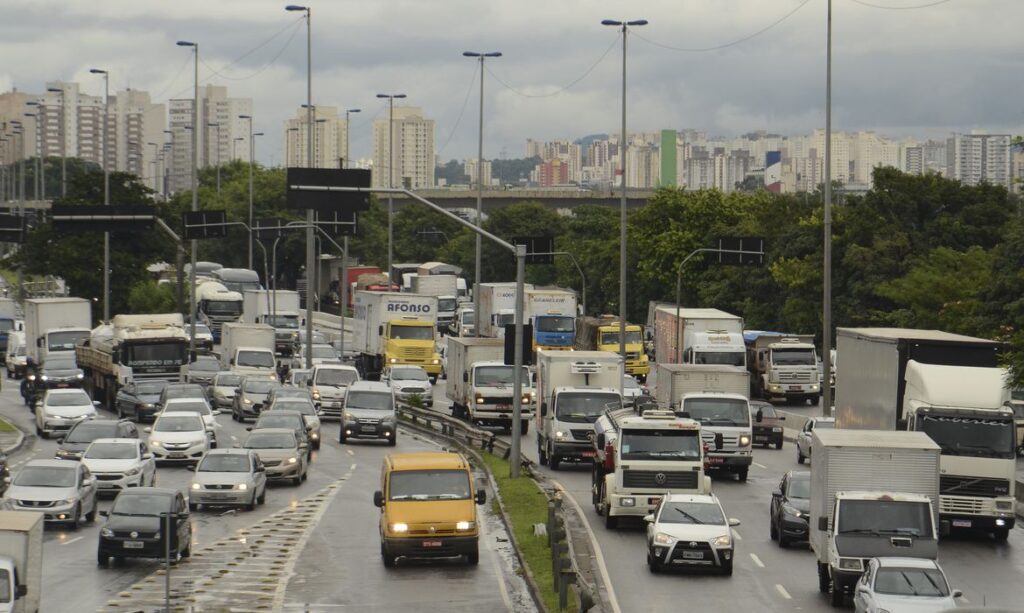
[[[553,588],[551,575],[551,549],[547,537],[534,535],[534,525],[548,521],[548,497],[528,475],[510,478],[508,461],[486,452],[480,455],[494,475],[516,543],[542,592],[544,605],[548,611],[558,611],[558,593]],[[573,601],[569,598],[567,611],[575,611]]]

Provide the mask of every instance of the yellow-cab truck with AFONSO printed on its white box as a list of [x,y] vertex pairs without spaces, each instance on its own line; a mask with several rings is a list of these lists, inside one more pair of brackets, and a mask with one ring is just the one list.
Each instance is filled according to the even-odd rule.
[[432,379],[441,373],[437,353],[437,298],[397,292],[356,292],[352,316],[355,366],[377,379],[385,365],[422,366]]

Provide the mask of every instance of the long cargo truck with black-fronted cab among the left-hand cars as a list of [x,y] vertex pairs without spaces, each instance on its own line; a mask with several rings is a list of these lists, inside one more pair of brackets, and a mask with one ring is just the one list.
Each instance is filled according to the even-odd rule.
[[115,315],[75,352],[92,398],[116,411],[118,390],[129,383],[184,380],[188,335],[180,313]]

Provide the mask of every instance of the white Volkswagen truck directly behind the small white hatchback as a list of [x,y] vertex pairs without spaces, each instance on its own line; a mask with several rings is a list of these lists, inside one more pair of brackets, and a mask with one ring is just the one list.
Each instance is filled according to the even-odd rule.
[[605,411],[594,424],[592,500],[607,528],[643,517],[662,496],[711,493],[700,425],[671,410]]

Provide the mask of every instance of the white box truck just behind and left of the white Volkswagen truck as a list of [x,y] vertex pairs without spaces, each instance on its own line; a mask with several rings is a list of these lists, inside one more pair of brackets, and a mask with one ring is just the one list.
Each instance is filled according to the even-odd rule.
[[557,471],[594,457],[594,422],[623,407],[623,358],[607,351],[537,352],[537,454]]

